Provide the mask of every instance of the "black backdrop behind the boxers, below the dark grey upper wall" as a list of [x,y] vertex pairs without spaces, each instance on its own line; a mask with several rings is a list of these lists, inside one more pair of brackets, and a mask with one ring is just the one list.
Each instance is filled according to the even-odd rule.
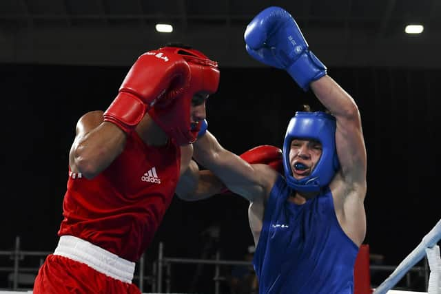
[[[76,120],[105,109],[129,67],[1,64],[0,250],[21,237],[26,250],[52,251],[62,220],[68,151]],[[289,118],[316,105],[282,70],[220,68],[220,87],[207,102],[209,130],[240,154],[262,144],[281,147]],[[398,264],[440,219],[438,129],[441,70],[331,68],[329,75],[360,109],[368,156],[367,236],[371,253]],[[174,198],[158,242],[169,257],[201,257],[203,231],[220,227],[225,260],[241,260],[253,243],[248,203],[233,195],[200,202]]]

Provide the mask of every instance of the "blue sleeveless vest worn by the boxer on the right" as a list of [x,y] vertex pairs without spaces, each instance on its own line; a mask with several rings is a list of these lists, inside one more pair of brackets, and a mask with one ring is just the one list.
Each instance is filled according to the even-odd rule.
[[329,187],[297,205],[279,176],[265,207],[254,270],[260,294],[352,294],[358,246],[343,232]]

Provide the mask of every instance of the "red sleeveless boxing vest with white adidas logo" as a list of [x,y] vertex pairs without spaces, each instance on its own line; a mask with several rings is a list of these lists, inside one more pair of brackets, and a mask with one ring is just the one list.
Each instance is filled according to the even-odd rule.
[[178,146],[147,146],[132,132],[123,152],[101,174],[92,180],[69,177],[58,234],[138,261],[172,202],[180,167]]

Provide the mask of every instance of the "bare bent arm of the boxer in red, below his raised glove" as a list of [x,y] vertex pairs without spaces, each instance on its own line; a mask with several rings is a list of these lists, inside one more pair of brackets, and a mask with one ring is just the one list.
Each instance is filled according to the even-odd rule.
[[125,140],[122,129],[103,122],[102,111],[88,112],[76,124],[76,136],[69,154],[71,171],[94,178],[121,154]]

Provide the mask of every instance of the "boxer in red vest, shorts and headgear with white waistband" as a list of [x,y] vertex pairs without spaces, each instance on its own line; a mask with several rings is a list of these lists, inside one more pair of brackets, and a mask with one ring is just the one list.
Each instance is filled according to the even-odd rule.
[[203,198],[221,187],[194,191],[199,174],[191,161],[205,100],[218,82],[216,62],[167,46],[139,57],[105,112],[79,119],[59,244],[34,294],[140,293],[134,263],[174,193]]

